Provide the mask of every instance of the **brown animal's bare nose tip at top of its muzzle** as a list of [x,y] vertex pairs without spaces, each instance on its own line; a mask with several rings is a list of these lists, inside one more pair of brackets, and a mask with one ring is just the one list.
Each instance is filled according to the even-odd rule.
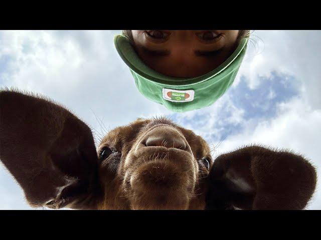
[[171,134],[159,134],[148,136],[146,146],[165,146],[174,147],[182,150],[186,149],[186,143],[180,136]]

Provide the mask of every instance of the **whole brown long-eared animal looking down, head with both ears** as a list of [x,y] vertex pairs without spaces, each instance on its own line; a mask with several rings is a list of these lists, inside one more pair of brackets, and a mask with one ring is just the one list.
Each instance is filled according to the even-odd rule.
[[96,149],[70,111],[9,89],[0,132],[0,159],[34,207],[303,209],[316,184],[298,154],[253,145],[213,160],[201,136],[167,118],[116,127]]

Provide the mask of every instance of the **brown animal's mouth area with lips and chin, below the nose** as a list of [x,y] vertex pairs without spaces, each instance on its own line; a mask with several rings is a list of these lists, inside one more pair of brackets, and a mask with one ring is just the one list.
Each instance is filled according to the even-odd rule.
[[125,174],[132,208],[186,209],[198,170],[193,155],[177,148],[156,148],[141,149],[144,154],[133,156],[136,163]]

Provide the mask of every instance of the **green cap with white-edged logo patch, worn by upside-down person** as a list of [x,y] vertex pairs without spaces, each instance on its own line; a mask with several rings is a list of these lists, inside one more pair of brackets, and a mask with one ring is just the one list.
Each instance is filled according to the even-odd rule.
[[214,70],[190,78],[172,77],[148,67],[137,55],[125,35],[114,37],[115,47],[128,65],[141,94],[175,112],[184,112],[212,105],[232,85],[242,63],[248,38]]

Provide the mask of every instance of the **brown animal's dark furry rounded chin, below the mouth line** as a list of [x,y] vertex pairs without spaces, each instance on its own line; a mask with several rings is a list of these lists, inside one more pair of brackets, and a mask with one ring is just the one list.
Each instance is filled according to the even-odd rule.
[[132,209],[187,209],[195,185],[189,174],[171,161],[144,163],[130,177]]

